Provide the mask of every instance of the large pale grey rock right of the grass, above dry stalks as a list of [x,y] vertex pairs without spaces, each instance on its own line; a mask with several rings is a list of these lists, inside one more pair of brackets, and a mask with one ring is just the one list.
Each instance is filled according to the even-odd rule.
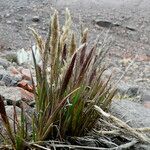
[[115,100],[110,113],[127,122],[131,127],[150,127],[150,109],[130,100]]

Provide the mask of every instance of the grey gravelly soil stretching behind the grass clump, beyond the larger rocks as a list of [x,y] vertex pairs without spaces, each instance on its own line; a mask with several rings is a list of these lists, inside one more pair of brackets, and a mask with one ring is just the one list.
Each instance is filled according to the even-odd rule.
[[150,90],[149,6],[149,0],[1,0],[0,52],[30,49],[34,41],[28,27],[44,37],[53,8],[58,9],[63,23],[68,7],[75,31],[83,24],[89,28],[90,41],[101,35],[100,45],[106,39],[107,46],[113,43],[107,63],[115,79],[120,78],[136,57],[122,80]]

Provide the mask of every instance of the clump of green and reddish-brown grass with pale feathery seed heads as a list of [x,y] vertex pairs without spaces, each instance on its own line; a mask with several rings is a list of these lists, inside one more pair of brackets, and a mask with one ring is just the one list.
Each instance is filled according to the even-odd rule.
[[[36,109],[30,138],[25,136],[24,119],[17,132],[19,136],[16,136],[9,127],[7,117],[2,117],[15,148],[16,139],[22,142],[20,145],[27,146],[27,141],[84,136],[99,119],[94,105],[107,110],[111,103],[116,90],[111,88],[110,78],[102,80],[106,70],[101,63],[102,51],[97,49],[97,43],[88,48],[88,29],[81,33],[80,44],[77,45],[75,33],[70,27],[71,15],[67,9],[62,30],[58,12],[54,12],[46,41],[31,29],[41,54],[42,66],[36,63],[32,52],[37,81],[36,85],[33,82]],[[0,114],[7,116],[4,109]]]

